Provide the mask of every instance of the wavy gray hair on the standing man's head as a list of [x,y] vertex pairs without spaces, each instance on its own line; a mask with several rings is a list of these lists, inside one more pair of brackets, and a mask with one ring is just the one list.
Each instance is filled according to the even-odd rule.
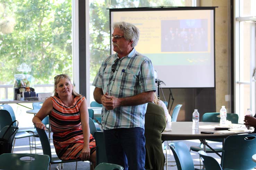
[[138,44],[139,41],[139,29],[135,27],[135,25],[128,23],[128,22],[114,22],[112,24],[113,29],[119,28],[121,31],[123,31],[124,37],[127,40],[132,39],[133,44],[131,44],[132,47],[135,47]]

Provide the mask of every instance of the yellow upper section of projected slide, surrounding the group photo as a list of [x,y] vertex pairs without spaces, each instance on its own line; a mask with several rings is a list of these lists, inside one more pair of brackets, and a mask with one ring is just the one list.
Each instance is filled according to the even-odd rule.
[[[163,41],[169,43],[167,36],[167,28],[162,28],[162,22],[172,23],[174,20],[195,20],[206,19],[205,31],[207,32],[207,47],[201,52],[210,53],[211,51],[211,10],[167,10],[167,11],[115,11],[112,12],[112,22],[125,21],[134,24],[140,30],[140,37],[136,50],[139,53],[179,53],[175,50],[164,50]],[[169,29],[169,28],[168,28]],[[181,28],[179,28],[181,31]],[[164,32],[164,31],[165,32]],[[212,30],[213,31],[213,30]],[[174,32],[174,30],[173,30]],[[112,34],[112,32],[111,32]],[[170,38],[169,38],[170,39]],[[176,44],[178,41],[176,41]],[[166,47],[169,48],[169,47]],[[186,50],[182,51],[186,53]],[[197,50],[190,50],[190,53],[198,53]]]

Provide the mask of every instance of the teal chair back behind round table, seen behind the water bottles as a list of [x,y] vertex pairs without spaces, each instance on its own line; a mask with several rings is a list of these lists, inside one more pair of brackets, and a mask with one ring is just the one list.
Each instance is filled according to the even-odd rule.
[[[205,113],[202,116],[202,122],[220,122],[220,113]],[[238,123],[238,114],[227,113],[227,120],[232,123]]]

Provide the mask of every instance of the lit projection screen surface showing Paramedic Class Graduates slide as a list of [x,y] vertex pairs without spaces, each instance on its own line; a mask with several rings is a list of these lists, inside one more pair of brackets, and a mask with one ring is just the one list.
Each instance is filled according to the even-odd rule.
[[125,21],[138,27],[135,48],[151,59],[163,88],[215,87],[213,9],[116,10],[110,9],[111,24]]

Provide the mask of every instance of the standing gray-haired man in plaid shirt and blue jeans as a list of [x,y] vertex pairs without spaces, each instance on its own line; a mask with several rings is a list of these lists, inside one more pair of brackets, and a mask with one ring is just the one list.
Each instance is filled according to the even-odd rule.
[[155,78],[151,60],[139,54],[137,27],[113,24],[113,50],[101,64],[93,86],[94,99],[102,103],[102,127],[109,163],[125,170],[144,170],[144,123],[147,103],[154,100]]

